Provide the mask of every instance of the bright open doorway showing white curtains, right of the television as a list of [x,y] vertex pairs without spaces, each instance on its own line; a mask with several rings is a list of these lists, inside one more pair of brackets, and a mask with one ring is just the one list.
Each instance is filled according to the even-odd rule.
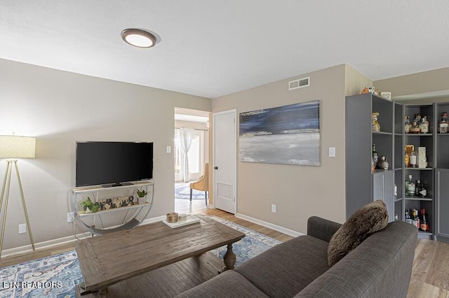
[[206,208],[206,193],[193,190],[190,183],[204,174],[209,162],[210,112],[175,107],[174,171],[175,212],[194,213]]

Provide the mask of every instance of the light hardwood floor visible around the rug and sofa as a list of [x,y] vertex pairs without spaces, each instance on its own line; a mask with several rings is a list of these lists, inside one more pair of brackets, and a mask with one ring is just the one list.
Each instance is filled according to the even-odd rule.
[[[217,216],[236,222],[238,225],[248,227],[279,241],[288,241],[292,236],[276,232],[267,227],[236,218],[230,213],[218,209],[206,208],[204,200],[175,199],[175,211],[177,213],[201,213],[208,216]],[[38,250],[23,255],[3,257],[0,260],[0,268],[11,264],[18,264],[40,257],[54,255],[63,251],[74,249],[74,244],[69,243],[55,248]],[[431,240],[419,240],[415,250],[413,261],[412,279],[408,290],[408,298],[449,298],[449,244]]]

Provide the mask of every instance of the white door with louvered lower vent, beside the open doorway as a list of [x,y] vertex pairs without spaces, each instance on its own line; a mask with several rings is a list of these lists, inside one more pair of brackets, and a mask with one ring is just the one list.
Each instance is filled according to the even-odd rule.
[[213,114],[213,198],[215,208],[236,213],[236,110]]

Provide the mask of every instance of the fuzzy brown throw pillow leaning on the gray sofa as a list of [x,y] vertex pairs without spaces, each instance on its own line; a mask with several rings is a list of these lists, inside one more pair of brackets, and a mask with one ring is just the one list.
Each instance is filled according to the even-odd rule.
[[328,264],[332,267],[370,234],[388,224],[388,211],[384,201],[366,204],[354,212],[329,241]]

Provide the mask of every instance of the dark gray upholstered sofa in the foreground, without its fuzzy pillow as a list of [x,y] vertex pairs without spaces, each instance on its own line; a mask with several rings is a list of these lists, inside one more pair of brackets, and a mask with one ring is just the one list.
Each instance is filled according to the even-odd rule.
[[177,297],[406,297],[417,229],[390,222],[328,266],[328,242],[341,225],[311,217],[307,235],[264,253]]

